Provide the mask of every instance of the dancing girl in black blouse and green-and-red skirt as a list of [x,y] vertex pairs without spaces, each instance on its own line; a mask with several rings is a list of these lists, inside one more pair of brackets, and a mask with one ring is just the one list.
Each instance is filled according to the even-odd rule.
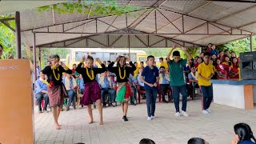
[[117,90],[117,102],[121,102],[122,105],[122,113],[123,113],[123,120],[126,122],[128,121],[126,114],[128,110],[128,102],[129,98],[132,95],[132,90],[130,84],[128,82],[129,75],[136,70],[133,62],[130,62],[130,66],[126,66],[126,62],[130,62],[130,58],[126,58],[124,56],[119,56],[117,58],[117,66],[114,66],[114,62],[111,62],[108,66],[110,72],[116,74],[117,82],[118,82],[118,90]]

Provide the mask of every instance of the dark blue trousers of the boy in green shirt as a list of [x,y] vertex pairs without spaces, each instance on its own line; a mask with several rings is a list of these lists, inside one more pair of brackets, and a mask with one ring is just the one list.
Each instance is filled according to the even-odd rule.
[[182,110],[186,111],[186,101],[187,101],[187,94],[186,94],[186,85],[183,86],[171,86],[173,91],[173,98],[174,98],[174,105],[176,109],[176,113],[179,112],[179,94],[182,94]]

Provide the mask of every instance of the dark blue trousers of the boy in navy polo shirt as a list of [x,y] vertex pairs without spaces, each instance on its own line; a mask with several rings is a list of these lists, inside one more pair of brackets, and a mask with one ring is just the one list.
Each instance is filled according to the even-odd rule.
[[157,99],[158,90],[146,89],[146,108],[147,116],[154,116],[155,102]]

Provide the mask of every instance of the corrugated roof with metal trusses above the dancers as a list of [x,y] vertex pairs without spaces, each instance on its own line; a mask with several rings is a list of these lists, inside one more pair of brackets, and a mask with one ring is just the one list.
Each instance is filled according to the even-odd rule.
[[[21,11],[22,38],[41,47],[206,46],[256,33],[254,3],[205,0],[120,0],[145,10],[127,16]],[[134,18],[134,14],[137,15]],[[127,17],[127,22],[126,22]],[[97,25],[96,25],[97,23]]]

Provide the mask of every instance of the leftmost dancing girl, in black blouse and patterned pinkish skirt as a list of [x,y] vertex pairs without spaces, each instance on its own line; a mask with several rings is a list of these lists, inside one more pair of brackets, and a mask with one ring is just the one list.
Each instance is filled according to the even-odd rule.
[[53,55],[50,59],[52,66],[46,66],[42,70],[42,73],[47,75],[47,81],[50,84],[48,87],[48,97],[50,99],[50,106],[52,107],[54,127],[56,130],[60,130],[61,128],[58,123],[58,117],[64,104],[64,97],[68,97],[65,86],[62,83],[62,73],[72,74],[72,70],[63,62],[60,62],[59,59],[57,54]]

